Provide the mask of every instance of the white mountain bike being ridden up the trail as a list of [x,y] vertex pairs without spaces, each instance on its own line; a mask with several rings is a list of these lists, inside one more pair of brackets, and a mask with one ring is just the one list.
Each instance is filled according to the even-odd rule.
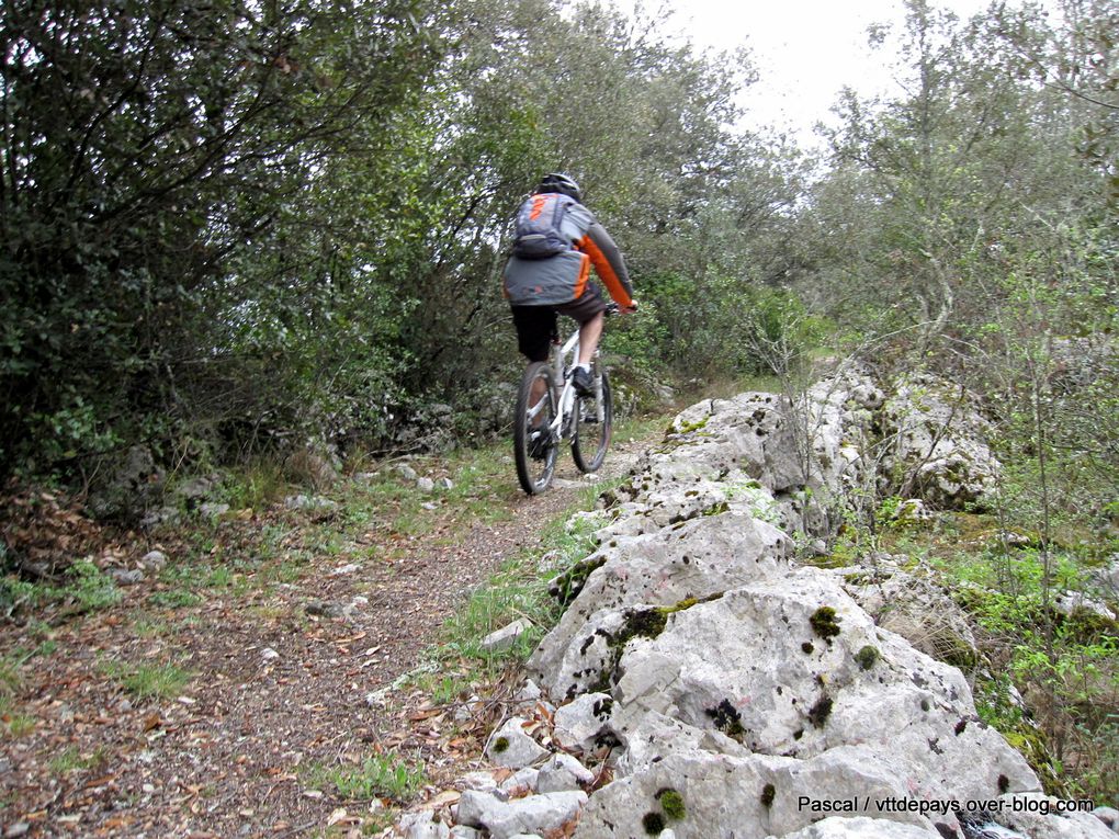
[[[608,305],[606,317],[618,311],[617,304]],[[520,380],[513,437],[517,479],[529,496],[551,486],[562,441],[571,441],[572,459],[581,472],[593,472],[606,458],[613,430],[610,377],[599,364],[596,349],[591,393],[580,396],[571,380],[577,359],[579,329],[563,346],[552,343],[551,364],[534,361]],[[563,387],[556,383],[556,370],[563,374]]]

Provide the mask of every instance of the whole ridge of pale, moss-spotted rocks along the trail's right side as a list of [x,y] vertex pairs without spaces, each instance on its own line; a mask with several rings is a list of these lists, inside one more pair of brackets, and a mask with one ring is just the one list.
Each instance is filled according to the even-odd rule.
[[[794,559],[867,481],[981,501],[998,464],[971,398],[919,377],[895,393],[847,370],[797,405],[750,393],[679,414],[554,583],[566,611],[529,661],[525,716],[487,748],[517,774],[466,790],[453,828],[427,812],[405,835],[1113,836],[1102,813],[1059,812],[980,722],[951,601],[888,557]],[[911,607],[883,620],[902,592]],[[603,755],[596,786],[583,764]],[[557,760],[567,780],[542,786],[535,764]]]

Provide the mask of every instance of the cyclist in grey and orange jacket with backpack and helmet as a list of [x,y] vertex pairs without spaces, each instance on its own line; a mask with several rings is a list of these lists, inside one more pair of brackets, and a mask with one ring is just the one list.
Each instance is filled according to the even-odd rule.
[[[548,347],[558,340],[557,312],[579,322],[579,360],[572,384],[582,396],[591,393],[591,361],[606,310],[590,281],[592,265],[620,309],[637,311],[622,254],[583,206],[579,185],[566,175],[545,175],[517,214],[514,253],[505,267],[505,295],[513,309],[518,349],[529,364],[546,361]],[[540,381],[542,393],[543,388]]]

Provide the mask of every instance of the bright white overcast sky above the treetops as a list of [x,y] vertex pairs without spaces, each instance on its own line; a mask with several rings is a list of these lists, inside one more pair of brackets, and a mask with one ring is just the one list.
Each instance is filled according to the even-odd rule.
[[[621,9],[633,6],[617,1]],[[750,48],[760,75],[742,100],[750,128],[789,129],[801,144],[811,144],[812,125],[830,121],[844,85],[863,94],[891,88],[892,56],[884,49],[872,54],[866,28],[900,27],[901,0],[646,0],[646,8],[661,1],[676,9],[664,31],[686,34],[700,48]],[[988,2],[933,0],[933,6],[966,20]]]

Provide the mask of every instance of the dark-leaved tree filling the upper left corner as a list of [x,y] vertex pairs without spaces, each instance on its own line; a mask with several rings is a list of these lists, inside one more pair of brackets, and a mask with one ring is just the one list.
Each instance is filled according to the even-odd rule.
[[224,350],[213,300],[263,279],[229,266],[340,139],[422,82],[422,16],[415,0],[4,4],[0,470],[191,413],[182,386],[220,379],[198,375]]

